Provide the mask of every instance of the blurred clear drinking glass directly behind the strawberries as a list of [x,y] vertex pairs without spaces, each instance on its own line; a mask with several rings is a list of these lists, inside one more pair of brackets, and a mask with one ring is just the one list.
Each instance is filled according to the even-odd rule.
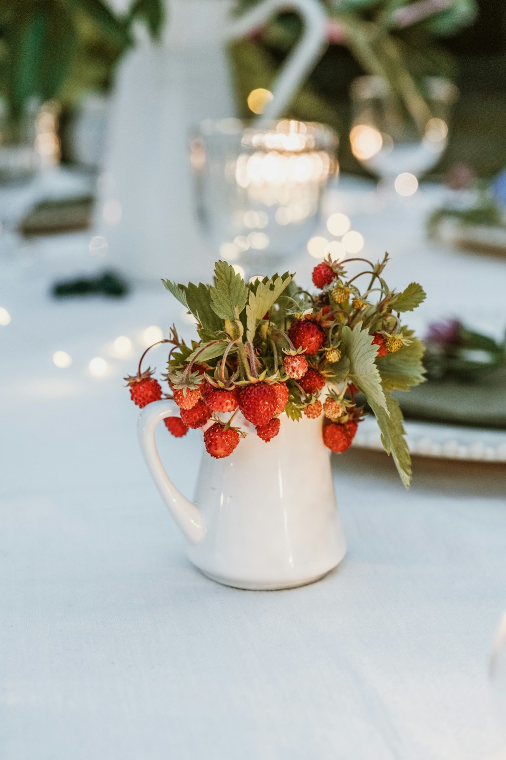
[[316,123],[203,122],[190,157],[200,223],[219,256],[248,277],[285,265],[319,220],[336,147]]

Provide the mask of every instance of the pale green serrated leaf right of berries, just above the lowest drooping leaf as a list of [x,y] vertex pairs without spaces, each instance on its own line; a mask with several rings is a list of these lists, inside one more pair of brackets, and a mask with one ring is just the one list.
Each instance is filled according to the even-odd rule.
[[350,380],[360,388],[370,406],[376,404],[388,414],[381,377],[376,366],[377,347],[367,328],[359,322],[353,330],[347,325],[341,334],[341,350],[350,359]]

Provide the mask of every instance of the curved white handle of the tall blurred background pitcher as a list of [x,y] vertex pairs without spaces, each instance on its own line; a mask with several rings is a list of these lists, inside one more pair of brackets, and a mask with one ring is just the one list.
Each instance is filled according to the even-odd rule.
[[256,8],[231,21],[225,36],[228,40],[245,36],[279,11],[297,11],[303,20],[303,34],[278,72],[272,86],[273,100],[256,119],[256,125],[281,116],[326,44],[328,19],[319,0],[264,0]]

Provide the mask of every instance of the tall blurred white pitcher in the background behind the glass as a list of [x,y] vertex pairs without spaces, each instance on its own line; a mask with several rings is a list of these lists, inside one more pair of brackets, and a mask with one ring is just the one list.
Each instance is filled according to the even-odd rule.
[[137,45],[118,69],[96,204],[96,233],[125,274],[193,279],[209,268],[194,211],[188,141],[203,119],[234,116],[226,46],[279,11],[303,19],[300,42],[272,87],[262,119],[276,119],[325,45],[319,0],[264,0],[240,17],[232,0],[166,0],[162,44],[136,27]]

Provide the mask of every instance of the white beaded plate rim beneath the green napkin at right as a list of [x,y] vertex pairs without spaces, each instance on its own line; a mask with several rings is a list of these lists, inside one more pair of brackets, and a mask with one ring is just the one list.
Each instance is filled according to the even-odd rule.
[[[506,430],[439,425],[437,423],[404,422],[407,445],[413,455],[439,459],[460,459],[506,463]],[[373,415],[360,423],[354,439],[356,448],[381,450],[378,423]]]

